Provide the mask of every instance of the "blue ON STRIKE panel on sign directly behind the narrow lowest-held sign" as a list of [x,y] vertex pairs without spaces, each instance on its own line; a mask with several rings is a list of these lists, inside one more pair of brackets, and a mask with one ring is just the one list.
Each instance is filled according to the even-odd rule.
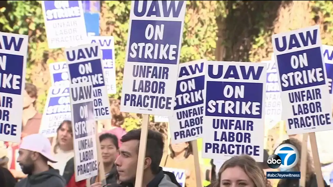
[[[80,65],[81,67],[85,67],[84,69],[86,73],[84,75],[80,74]],[[92,67],[92,71],[89,72],[89,68],[87,67]],[[103,79],[102,63],[100,59],[69,64],[68,69],[73,83],[75,83],[76,81],[77,83],[80,83],[83,79],[87,79],[88,82],[92,82],[93,88],[105,86]],[[76,79],[76,81],[74,81],[73,79]]]

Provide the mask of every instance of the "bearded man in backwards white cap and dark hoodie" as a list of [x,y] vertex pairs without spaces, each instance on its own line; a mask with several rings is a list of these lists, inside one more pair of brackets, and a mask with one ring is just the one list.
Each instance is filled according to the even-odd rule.
[[51,154],[50,141],[41,134],[24,137],[17,162],[28,177],[20,180],[15,187],[65,187],[65,179],[60,176],[59,170],[47,164],[48,161],[57,162]]

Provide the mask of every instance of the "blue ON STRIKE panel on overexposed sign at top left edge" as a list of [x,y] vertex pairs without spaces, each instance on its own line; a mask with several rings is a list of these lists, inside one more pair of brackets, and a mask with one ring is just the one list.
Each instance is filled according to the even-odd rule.
[[48,21],[81,16],[79,1],[43,1],[43,3]]

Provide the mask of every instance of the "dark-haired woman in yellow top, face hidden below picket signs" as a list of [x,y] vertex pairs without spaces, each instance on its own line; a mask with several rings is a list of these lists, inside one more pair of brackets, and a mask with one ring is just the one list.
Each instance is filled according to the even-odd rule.
[[175,143],[169,145],[170,154],[162,158],[161,166],[168,168],[185,169],[185,187],[196,186],[194,156],[191,142]]

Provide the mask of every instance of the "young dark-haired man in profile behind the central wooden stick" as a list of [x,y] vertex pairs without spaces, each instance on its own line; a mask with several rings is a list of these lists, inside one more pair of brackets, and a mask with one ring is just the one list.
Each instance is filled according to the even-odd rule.
[[[134,187],[139,156],[141,129],[134,129],[122,138],[120,155],[116,159],[120,186]],[[165,172],[160,167],[163,155],[164,138],[160,132],[148,130],[146,158],[142,187],[181,187],[173,173]],[[112,186],[112,185],[111,185]],[[102,187],[102,183],[91,187]]]

